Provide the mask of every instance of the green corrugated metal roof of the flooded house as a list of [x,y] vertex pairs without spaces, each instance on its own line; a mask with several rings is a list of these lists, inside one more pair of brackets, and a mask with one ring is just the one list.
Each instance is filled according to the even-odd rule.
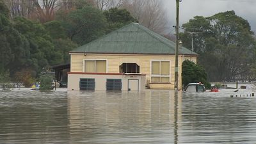
[[[100,54],[175,54],[175,43],[138,23],[131,23],[70,51],[70,53],[81,52]],[[179,49],[179,54],[198,55],[185,47]]]

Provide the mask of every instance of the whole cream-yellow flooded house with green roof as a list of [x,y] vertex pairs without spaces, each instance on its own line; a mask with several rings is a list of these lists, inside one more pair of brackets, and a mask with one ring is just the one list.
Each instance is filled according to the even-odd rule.
[[[179,47],[182,62],[198,54]],[[70,51],[68,90],[174,89],[175,43],[138,23],[128,24]]]

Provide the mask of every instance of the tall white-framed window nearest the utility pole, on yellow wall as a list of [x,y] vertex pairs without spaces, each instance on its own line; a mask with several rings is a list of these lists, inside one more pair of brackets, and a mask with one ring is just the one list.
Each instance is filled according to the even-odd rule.
[[169,83],[170,82],[170,61],[152,61],[151,82],[152,83]]

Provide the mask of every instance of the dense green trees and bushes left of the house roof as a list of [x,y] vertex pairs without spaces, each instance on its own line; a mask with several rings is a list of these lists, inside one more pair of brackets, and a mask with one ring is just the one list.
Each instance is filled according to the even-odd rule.
[[68,52],[78,45],[137,22],[127,10],[111,8],[100,11],[90,3],[68,12],[59,11],[55,16],[54,20],[43,23],[13,17],[4,1],[0,0],[1,76],[10,76],[13,81],[29,86],[42,68],[68,63]]

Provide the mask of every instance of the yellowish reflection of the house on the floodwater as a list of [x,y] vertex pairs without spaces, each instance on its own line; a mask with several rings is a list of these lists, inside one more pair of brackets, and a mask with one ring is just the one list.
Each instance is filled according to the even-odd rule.
[[70,137],[87,143],[177,143],[182,97],[176,94],[69,93]]

